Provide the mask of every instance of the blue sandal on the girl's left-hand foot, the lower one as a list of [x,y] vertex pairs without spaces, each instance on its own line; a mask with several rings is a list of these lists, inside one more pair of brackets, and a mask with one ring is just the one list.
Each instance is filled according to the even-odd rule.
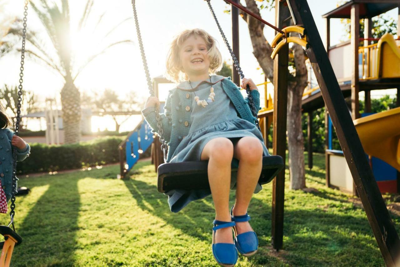
[[238,260],[238,252],[234,244],[229,243],[217,243],[215,242],[215,232],[221,228],[234,227],[235,222],[223,222],[220,220],[214,220],[212,222],[214,227],[212,228],[212,255],[214,255],[217,263],[224,267],[232,267]]

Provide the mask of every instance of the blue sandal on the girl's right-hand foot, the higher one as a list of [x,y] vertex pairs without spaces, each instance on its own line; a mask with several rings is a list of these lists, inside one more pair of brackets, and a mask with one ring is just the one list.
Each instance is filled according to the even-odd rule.
[[[247,222],[250,220],[250,216],[246,213],[245,215],[233,216],[233,207],[230,210],[230,216],[233,222]],[[258,238],[254,231],[241,233],[238,235],[236,232],[236,227],[233,227],[235,232],[235,245],[239,253],[244,257],[250,257],[256,254],[258,249]]]

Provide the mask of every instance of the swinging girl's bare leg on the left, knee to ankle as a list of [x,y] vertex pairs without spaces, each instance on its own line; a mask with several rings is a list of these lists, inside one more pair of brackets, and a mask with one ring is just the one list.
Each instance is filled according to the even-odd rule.
[[[230,164],[233,158],[233,144],[228,138],[210,140],[201,154],[201,160],[208,160],[208,181],[215,206],[215,219],[230,222],[229,190]],[[222,228],[215,233],[216,243],[233,244],[232,229]]]

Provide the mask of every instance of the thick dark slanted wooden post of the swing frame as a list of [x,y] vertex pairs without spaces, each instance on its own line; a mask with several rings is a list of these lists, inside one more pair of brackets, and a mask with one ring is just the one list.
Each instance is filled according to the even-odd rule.
[[[306,0],[288,0],[288,3],[298,24],[302,24],[307,30],[307,39],[310,47],[306,49],[306,53],[320,85],[325,105],[335,126],[336,134],[382,257],[387,266],[399,266],[400,239],[368,164],[352,118],[348,113],[346,102],[317,26],[312,18],[308,3]],[[356,13],[358,13],[357,8],[353,6],[352,15],[356,17]],[[352,39],[354,39],[354,35]]]

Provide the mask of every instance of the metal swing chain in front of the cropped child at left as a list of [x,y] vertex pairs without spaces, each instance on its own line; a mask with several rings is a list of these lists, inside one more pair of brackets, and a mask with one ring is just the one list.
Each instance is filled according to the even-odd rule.
[[[23,77],[24,77],[24,63],[25,63],[25,43],[26,43],[26,21],[27,21],[27,16],[28,16],[28,1],[25,1],[25,6],[24,6],[24,23],[22,24],[23,29],[22,29],[22,48],[21,48],[21,67],[20,67],[20,85],[18,85],[18,104],[17,104],[17,115],[16,115],[16,122],[15,122],[15,135],[19,135],[20,131],[20,115],[21,115],[21,102],[22,102],[22,82]],[[12,228],[15,231],[15,226],[14,226],[14,215],[15,215],[15,194],[17,192],[17,148],[14,146],[13,148],[13,166],[12,166],[12,192],[11,192],[11,211],[10,211],[10,225],[12,225]]]

